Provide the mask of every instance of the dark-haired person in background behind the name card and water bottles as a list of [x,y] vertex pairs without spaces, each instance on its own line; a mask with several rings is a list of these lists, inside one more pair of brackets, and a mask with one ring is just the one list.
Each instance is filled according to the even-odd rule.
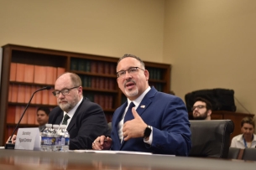
[[50,109],[48,107],[39,107],[36,111],[36,121],[39,123],[39,131],[44,131],[45,124],[49,120]]

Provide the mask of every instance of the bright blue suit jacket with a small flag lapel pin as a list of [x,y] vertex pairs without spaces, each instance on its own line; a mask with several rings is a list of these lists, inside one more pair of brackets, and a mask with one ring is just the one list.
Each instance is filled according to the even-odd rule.
[[118,122],[121,121],[127,105],[126,101],[113,114],[112,150],[188,156],[191,149],[191,129],[185,104],[180,98],[159,92],[152,87],[139,104],[136,110],[138,115],[153,127],[151,146],[144,142],[144,137],[121,143],[118,137]]

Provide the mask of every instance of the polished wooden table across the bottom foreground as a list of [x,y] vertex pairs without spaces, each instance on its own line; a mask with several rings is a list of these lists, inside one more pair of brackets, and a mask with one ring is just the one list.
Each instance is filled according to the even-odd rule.
[[254,170],[255,167],[256,162],[218,158],[0,150],[1,170]]

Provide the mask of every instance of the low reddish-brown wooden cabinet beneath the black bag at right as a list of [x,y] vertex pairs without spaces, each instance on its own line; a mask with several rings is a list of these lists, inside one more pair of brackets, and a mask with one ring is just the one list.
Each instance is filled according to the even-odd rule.
[[[212,120],[232,120],[234,122],[234,131],[232,135],[230,136],[230,141],[232,140],[232,137],[235,137],[239,134],[241,134],[241,121],[243,117],[250,116],[253,117],[253,114],[248,113],[238,113],[233,111],[212,111]],[[190,120],[193,119],[192,112],[189,113]]]

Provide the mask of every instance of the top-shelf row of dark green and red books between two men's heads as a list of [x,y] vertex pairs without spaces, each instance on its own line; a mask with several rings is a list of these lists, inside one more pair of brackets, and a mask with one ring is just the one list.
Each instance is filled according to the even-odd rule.
[[71,59],[71,70],[116,75],[116,64],[88,59]]

